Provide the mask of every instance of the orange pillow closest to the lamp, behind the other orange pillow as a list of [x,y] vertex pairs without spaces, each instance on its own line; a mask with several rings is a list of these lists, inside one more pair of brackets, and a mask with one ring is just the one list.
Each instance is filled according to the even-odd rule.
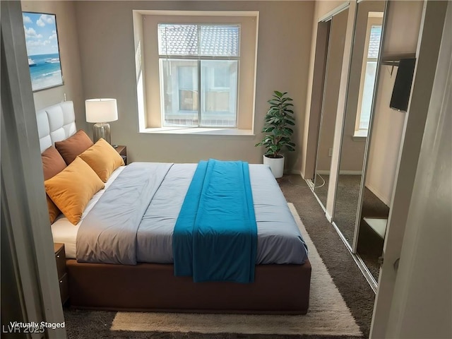
[[114,169],[124,166],[121,155],[103,138],[100,138],[95,145],[85,150],[79,157],[94,169],[102,182],[107,182]]

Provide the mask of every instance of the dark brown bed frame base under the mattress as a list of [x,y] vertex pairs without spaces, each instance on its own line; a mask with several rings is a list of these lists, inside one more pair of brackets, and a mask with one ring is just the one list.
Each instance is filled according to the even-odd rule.
[[171,264],[66,260],[71,307],[115,311],[306,314],[311,263],[258,265],[254,283],[194,283]]

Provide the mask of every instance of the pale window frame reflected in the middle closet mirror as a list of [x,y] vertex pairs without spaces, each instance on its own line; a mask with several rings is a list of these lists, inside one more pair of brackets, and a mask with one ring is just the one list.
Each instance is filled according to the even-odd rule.
[[[368,129],[361,129],[361,109],[362,109],[362,99],[364,94],[364,83],[366,78],[366,69],[367,69],[367,61],[376,61],[378,62],[378,58],[368,58],[368,51],[369,51],[369,44],[370,44],[370,33],[371,28],[374,25],[382,25],[383,24],[383,18],[381,17],[374,17],[370,16],[371,13],[369,13],[369,18],[367,20],[367,31],[366,31],[366,42],[364,44],[364,55],[362,58],[362,68],[361,68],[361,79],[359,83],[359,97],[358,97],[358,105],[357,105],[357,113],[356,113],[356,120],[355,120],[355,133],[354,137],[367,137]],[[381,51],[380,51],[381,52]],[[376,74],[375,76],[378,76]],[[375,83],[374,83],[375,85]]]

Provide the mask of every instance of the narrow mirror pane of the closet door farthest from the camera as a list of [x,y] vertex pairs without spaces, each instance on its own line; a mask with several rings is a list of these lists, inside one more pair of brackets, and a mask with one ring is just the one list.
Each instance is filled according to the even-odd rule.
[[330,177],[333,136],[338,110],[340,72],[343,64],[345,33],[347,29],[348,8],[331,18],[326,75],[323,85],[322,112],[317,144],[316,177],[314,193],[323,206],[326,206],[328,179]]

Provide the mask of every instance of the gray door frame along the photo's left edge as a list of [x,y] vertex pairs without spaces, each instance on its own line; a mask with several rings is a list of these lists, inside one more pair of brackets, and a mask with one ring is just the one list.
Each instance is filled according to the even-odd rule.
[[[64,323],[27,59],[20,1],[1,1],[1,228],[11,254],[2,280],[16,285],[25,323]],[[64,327],[45,332],[66,338]]]

